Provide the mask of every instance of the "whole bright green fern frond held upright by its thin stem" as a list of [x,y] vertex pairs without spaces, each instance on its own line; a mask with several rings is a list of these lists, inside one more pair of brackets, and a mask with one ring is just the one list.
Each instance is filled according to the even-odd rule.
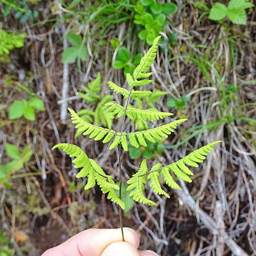
[[[134,90],[135,87],[146,86],[151,83],[152,80],[146,79],[153,74],[153,72],[148,72],[148,69],[152,65],[157,52],[157,45],[160,40],[158,36],[154,42],[153,46],[148,50],[144,57],[141,58],[140,64],[134,70],[133,74],[126,74],[126,81],[130,87],[130,90],[117,86],[115,83],[109,81],[109,86],[117,94],[120,93],[126,100],[126,105],[122,106],[116,103],[115,101],[106,103],[106,106],[109,106],[109,111],[112,111],[117,118],[123,118],[121,131],[113,131],[97,125],[91,124],[87,121],[84,121],[80,118],[73,110],[69,109],[71,113],[72,122],[76,124],[76,129],[79,134],[89,135],[89,138],[94,138],[94,140],[102,140],[103,143],[108,143],[111,140],[112,143],[109,146],[109,149],[112,150],[116,146],[119,146],[119,165],[120,165],[120,152],[123,148],[124,151],[127,151],[127,145],[129,142],[134,147],[139,147],[140,145],[146,147],[146,141],[156,142],[155,140],[162,140],[167,138],[168,135],[174,132],[174,129],[177,128],[178,124],[186,121],[186,119],[179,119],[167,124],[163,124],[154,129],[148,129],[145,131],[139,132],[124,132],[124,120],[127,116],[131,120],[135,118],[155,121],[156,119],[162,119],[167,116],[173,115],[172,113],[158,112],[153,110],[141,110],[136,108],[128,107],[130,99],[135,98],[145,98],[150,97],[152,94],[151,91],[138,91]],[[148,169],[146,160],[144,159],[138,172],[133,175],[132,178],[127,180],[127,190],[131,191],[130,196],[135,200],[147,205],[156,205],[150,199],[147,199],[145,196],[145,187],[146,183],[149,183],[151,188],[158,195],[164,195],[169,198],[169,195],[162,189],[161,183],[159,180],[160,174],[163,176],[165,183],[175,189],[180,189],[179,185],[173,179],[173,175],[181,178],[184,181],[191,182],[189,175],[193,175],[191,170],[187,166],[198,167],[197,163],[203,162],[205,156],[210,153],[212,147],[215,146],[220,141],[212,142],[206,146],[199,148],[198,150],[190,153],[183,159],[175,163],[171,163],[166,166],[162,166],[161,163],[157,163],[151,169]],[[119,204],[119,206],[124,209],[125,204],[122,201],[121,195],[118,197],[115,193],[115,189],[120,189],[110,175],[106,175],[102,168],[92,159],[89,159],[86,153],[81,150],[80,147],[68,143],[61,143],[55,145],[53,148],[61,148],[65,151],[70,157],[74,157],[73,163],[75,163],[75,168],[81,168],[80,172],[77,174],[77,178],[87,177],[87,184],[85,189],[89,189],[97,183],[101,188],[103,193],[108,193],[108,199],[111,199],[113,202]],[[121,167],[120,170],[120,187],[121,187]],[[121,194],[121,193],[120,193]]]

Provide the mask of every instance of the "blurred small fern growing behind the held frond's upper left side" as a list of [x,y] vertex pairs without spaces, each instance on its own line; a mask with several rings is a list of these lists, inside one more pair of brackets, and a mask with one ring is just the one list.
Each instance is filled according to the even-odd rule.
[[[115,115],[108,110],[108,106],[105,106],[105,103],[109,102],[113,96],[105,95],[102,99],[100,99],[100,95],[98,94],[101,91],[100,88],[101,76],[100,72],[98,72],[97,77],[94,81],[88,83],[88,88],[83,87],[85,93],[78,94],[82,97],[82,99],[88,101],[90,104],[97,104],[94,110],[82,109],[77,114],[84,120],[89,123],[94,123],[99,125],[102,122],[104,127],[108,127],[111,129],[113,119]],[[75,137],[77,137],[80,133],[77,132]]]

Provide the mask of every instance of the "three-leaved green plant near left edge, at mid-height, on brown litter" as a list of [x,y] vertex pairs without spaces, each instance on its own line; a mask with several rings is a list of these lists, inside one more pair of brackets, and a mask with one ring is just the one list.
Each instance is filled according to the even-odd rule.
[[41,99],[33,97],[29,101],[15,100],[9,110],[9,119],[14,120],[24,116],[29,121],[35,121],[36,110],[45,111],[45,104]]

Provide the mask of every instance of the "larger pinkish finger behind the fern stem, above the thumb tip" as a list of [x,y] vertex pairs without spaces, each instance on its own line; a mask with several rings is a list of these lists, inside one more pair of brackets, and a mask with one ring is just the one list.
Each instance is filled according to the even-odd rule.
[[[140,239],[131,228],[123,228],[124,240],[135,248],[138,248]],[[84,230],[68,241],[47,250],[41,256],[99,256],[111,243],[122,241],[120,228]]]

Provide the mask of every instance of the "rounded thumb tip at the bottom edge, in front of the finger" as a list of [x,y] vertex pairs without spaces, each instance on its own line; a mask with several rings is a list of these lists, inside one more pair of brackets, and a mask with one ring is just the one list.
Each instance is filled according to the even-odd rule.
[[139,252],[130,243],[114,242],[107,246],[100,256],[139,256]]

